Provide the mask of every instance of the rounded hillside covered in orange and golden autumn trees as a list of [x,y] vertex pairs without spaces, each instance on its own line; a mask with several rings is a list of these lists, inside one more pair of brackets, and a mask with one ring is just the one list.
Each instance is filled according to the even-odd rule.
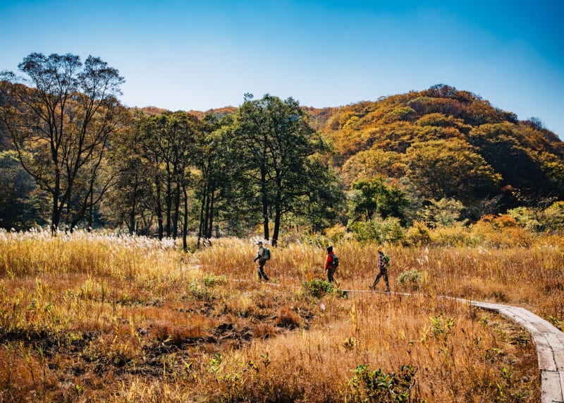
[[345,186],[384,177],[465,205],[503,195],[506,207],[518,194],[564,196],[564,143],[472,92],[434,85],[310,113]]

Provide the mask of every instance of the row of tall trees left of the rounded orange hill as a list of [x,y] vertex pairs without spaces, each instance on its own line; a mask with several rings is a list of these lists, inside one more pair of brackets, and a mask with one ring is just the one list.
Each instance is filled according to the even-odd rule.
[[291,97],[247,94],[221,118],[147,115],[118,102],[124,79],[99,58],[34,53],[18,67],[24,77],[1,76],[2,168],[13,191],[27,191],[3,192],[20,210],[4,212],[4,227],[123,225],[187,247],[189,231],[200,243],[219,224],[233,234],[262,224],[276,245],[284,219],[319,227],[335,217],[331,148]]

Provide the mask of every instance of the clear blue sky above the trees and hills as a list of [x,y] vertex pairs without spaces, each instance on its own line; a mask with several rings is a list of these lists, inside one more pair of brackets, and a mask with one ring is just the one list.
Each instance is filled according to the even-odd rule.
[[564,0],[0,0],[0,70],[99,56],[130,107],[312,107],[444,83],[564,138]]

